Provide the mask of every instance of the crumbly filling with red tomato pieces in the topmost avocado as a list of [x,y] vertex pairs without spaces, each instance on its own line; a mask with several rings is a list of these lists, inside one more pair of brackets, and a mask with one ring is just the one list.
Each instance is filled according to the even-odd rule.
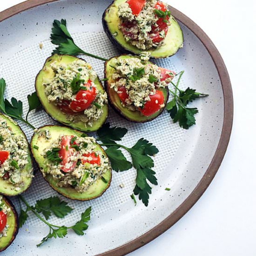
[[157,0],[146,0],[140,13],[134,14],[130,2],[118,6],[119,28],[125,40],[141,50],[162,46],[170,25],[168,7]]

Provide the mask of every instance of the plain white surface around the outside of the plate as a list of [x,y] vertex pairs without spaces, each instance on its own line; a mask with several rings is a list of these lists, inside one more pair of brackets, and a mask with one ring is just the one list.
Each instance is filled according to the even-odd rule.
[[[1,0],[0,11],[21,0]],[[229,148],[195,206],[130,256],[256,256],[256,1],[167,0],[195,21],[222,54],[234,94]]]

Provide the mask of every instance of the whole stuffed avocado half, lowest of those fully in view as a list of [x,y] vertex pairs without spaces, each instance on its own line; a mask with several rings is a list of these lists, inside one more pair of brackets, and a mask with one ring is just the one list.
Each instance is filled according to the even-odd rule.
[[61,126],[37,129],[31,150],[50,186],[67,198],[87,201],[101,196],[111,182],[106,153],[93,137]]

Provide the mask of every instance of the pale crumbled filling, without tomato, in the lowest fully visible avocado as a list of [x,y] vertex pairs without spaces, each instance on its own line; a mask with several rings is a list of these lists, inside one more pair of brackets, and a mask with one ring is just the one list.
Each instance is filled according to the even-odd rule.
[[[46,152],[52,150],[53,148],[61,148],[61,137],[60,135],[57,140],[51,143],[50,148],[46,148],[42,155],[46,159],[44,165],[43,175],[50,174],[53,176],[54,180],[57,181],[57,186],[59,187],[72,187],[78,192],[85,192],[94,182],[101,179],[102,175],[110,170],[108,158],[99,150],[96,146],[96,141],[93,137],[77,137],[75,139],[76,145],[79,147],[79,151],[75,151],[74,154],[70,155],[66,168],[72,166],[73,162],[76,165],[70,172],[64,173],[61,168],[63,165],[61,162],[59,164],[54,164],[47,160]],[[82,163],[81,160],[91,160],[91,157],[86,157],[83,155],[88,155],[90,153],[95,153],[100,157],[100,165],[90,164],[88,162]],[[86,177],[86,178],[85,178]]]

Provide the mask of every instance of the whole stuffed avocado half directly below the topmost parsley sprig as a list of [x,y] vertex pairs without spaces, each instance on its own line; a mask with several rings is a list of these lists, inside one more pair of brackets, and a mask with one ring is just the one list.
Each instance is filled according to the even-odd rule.
[[84,60],[70,55],[47,58],[35,89],[45,111],[56,121],[81,131],[96,131],[108,117],[101,81]]

